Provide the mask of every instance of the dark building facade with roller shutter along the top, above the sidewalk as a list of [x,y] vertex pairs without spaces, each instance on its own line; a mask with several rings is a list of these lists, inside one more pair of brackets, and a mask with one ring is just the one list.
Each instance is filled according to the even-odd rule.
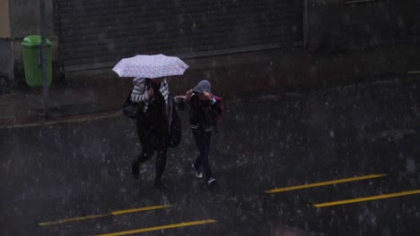
[[[418,42],[420,0],[45,0],[57,74],[110,68],[138,54],[199,58]],[[22,39],[39,34],[39,1],[0,0],[0,68],[23,81]]]

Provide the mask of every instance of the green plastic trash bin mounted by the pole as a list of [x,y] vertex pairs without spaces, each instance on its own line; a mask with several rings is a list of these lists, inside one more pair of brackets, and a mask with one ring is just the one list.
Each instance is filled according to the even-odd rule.
[[[23,38],[23,68],[25,70],[26,83],[30,87],[42,86],[42,60],[41,60],[41,38],[39,35],[30,35]],[[46,38],[47,49],[47,78],[48,86],[52,80],[52,59],[51,42]]]

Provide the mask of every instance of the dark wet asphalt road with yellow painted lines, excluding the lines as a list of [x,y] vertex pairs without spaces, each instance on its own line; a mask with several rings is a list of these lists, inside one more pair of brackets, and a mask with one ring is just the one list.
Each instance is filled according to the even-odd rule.
[[[139,144],[122,116],[0,130],[0,235],[97,235],[204,220],[215,222],[131,235],[420,235],[420,194],[314,206],[420,190],[418,85],[227,97],[212,140],[214,190],[190,171],[197,152],[186,114],[164,190],[153,189],[154,158],[141,180],[131,177]],[[265,192],[379,173],[386,176]],[[109,215],[144,206],[168,207]]]

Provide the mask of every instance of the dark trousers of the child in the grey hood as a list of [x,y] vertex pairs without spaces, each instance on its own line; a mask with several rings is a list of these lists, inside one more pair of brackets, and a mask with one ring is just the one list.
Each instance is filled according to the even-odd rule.
[[203,165],[203,171],[206,175],[207,180],[214,178],[212,173],[212,168],[208,161],[208,153],[210,150],[210,139],[212,138],[212,131],[204,131],[201,129],[191,129],[193,137],[196,140],[198,151],[200,154],[197,156],[196,162],[194,165],[197,169]]

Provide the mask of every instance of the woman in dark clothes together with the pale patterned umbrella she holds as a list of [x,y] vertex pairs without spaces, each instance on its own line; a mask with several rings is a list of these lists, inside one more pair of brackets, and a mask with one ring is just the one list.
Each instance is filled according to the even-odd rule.
[[[168,146],[175,147],[179,139],[168,138],[173,119],[172,99],[169,99],[168,81],[165,76],[182,75],[188,65],[176,56],[168,55],[136,55],[121,59],[112,68],[120,77],[136,77],[130,100],[141,103],[143,112],[136,121],[137,134],[142,145],[142,151],[132,162],[131,172],[138,179],[139,164],[150,159],[157,152],[154,186],[161,188],[162,173],[166,165],[166,150]],[[150,78],[150,79],[144,79]],[[179,124],[180,125],[180,124]],[[179,128],[180,129],[180,128]],[[180,133],[180,132],[179,132]]]

